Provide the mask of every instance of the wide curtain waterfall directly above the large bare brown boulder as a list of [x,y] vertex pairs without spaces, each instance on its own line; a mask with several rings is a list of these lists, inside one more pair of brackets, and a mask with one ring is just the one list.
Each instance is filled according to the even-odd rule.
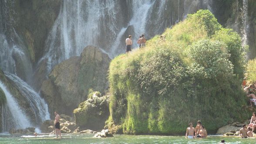
[[108,46],[108,41],[112,41],[118,31],[115,4],[113,0],[64,0],[42,58],[48,60],[48,69],[62,60],[80,55],[88,45]]

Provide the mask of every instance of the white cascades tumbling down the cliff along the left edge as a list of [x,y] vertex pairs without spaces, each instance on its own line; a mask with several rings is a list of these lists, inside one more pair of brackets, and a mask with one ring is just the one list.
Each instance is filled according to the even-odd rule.
[[0,82],[0,88],[7,97],[7,104],[2,105],[1,112],[3,131],[9,131],[10,128],[37,127],[40,122],[50,119],[47,104],[25,82],[30,80],[33,73],[32,64],[27,47],[12,27],[13,20],[9,19],[13,12],[12,6],[12,0],[0,1],[0,68],[12,80],[24,100],[28,100],[35,119],[27,118],[27,111],[19,106],[11,92]]

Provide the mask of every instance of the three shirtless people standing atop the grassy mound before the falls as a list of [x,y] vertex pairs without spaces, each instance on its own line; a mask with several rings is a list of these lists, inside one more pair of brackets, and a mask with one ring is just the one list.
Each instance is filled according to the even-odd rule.
[[[132,46],[132,40],[131,40],[131,35],[128,36],[128,38],[125,40],[125,51],[126,53],[128,53],[129,51],[131,51],[131,46]],[[137,44],[139,45],[139,48],[141,47],[146,47],[146,38],[144,34],[141,34],[141,36],[139,36],[139,39],[137,40]]]

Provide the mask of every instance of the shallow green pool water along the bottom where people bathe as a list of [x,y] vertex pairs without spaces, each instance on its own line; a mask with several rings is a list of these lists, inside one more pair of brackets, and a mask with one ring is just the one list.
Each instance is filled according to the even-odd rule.
[[94,134],[64,134],[62,139],[54,135],[43,137],[21,137],[18,135],[0,135],[0,144],[218,144],[222,139],[226,144],[256,144],[255,137],[209,136],[201,139],[185,139],[184,136],[155,135],[114,135],[108,138],[94,138]]

